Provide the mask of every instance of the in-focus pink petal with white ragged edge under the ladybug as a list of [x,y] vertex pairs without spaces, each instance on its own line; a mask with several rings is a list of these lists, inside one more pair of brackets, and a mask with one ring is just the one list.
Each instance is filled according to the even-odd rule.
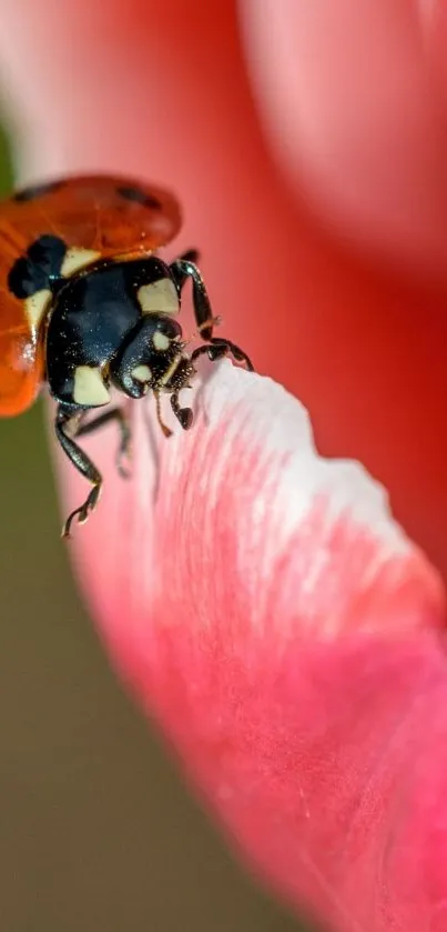
[[[438,932],[440,580],[281,387],[222,363],[194,407],[165,441],[133,404],[134,478],[108,467],[75,532],[112,661],[271,884],[341,932]],[[85,445],[104,465],[115,441]],[[68,509],[85,490],[62,475]]]

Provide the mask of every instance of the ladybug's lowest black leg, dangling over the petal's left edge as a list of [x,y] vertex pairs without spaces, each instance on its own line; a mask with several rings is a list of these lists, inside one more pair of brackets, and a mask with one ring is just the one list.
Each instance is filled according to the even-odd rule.
[[63,538],[70,537],[71,524],[75,518],[80,524],[83,524],[84,521],[87,521],[90,512],[92,512],[98,504],[102,485],[101,473],[98,471],[94,463],[92,463],[89,459],[87,453],[78,447],[73,438],[70,435],[72,431],[75,432],[78,423],[79,417],[77,414],[67,411],[67,409],[64,409],[61,404],[58,407],[54,430],[59,443],[61,444],[62,450],[67,453],[70,462],[73,463],[81,475],[84,475],[93,487],[83,504],[80,505],[80,508],[74,509],[74,511],[69,514],[62,530]]

